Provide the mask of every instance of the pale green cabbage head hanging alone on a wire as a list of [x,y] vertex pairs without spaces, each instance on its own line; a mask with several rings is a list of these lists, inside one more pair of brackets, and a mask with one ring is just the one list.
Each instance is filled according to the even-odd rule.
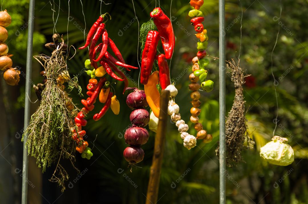
[[294,161],[294,151],[287,142],[285,137],[274,136],[272,141],[261,147],[261,158],[274,165],[290,165]]

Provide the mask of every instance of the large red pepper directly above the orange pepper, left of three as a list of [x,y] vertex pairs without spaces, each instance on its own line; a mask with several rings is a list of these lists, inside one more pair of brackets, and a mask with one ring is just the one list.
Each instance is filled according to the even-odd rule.
[[149,76],[152,71],[153,63],[156,57],[156,49],[160,34],[157,31],[149,31],[144,44],[141,57],[141,84],[148,84]]

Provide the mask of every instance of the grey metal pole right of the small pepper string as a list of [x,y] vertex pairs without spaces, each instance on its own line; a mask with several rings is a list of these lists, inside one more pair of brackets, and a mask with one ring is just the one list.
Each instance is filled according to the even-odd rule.
[[225,0],[219,0],[219,193],[226,203]]

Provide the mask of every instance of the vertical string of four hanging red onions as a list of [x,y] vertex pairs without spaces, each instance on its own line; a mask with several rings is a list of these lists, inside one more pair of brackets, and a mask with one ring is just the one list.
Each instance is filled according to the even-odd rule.
[[129,116],[132,126],[124,133],[125,142],[130,146],[124,149],[123,156],[129,165],[134,166],[144,158],[144,151],[140,146],[149,139],[148,130],[144,127],[150,121],[150,113],[144,109],[148,106],[148,102],[143,90],[137,88],[126,88],[126,90],[133,90],[126,98],[126,104],[133,111]]

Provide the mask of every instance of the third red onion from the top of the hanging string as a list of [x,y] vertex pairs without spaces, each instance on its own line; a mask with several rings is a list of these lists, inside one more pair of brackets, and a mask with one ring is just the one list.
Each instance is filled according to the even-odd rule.
[[126,129],[124,139],[129,145],[144,145],[149,139],[149,133],[144,128],[130,127]]

